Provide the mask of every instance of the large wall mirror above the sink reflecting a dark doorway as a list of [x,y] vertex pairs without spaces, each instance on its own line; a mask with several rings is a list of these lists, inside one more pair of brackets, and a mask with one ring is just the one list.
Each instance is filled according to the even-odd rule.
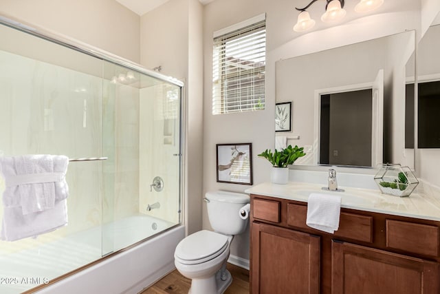
[[305,147],[300,165],[413,167],[404,124],[414,51],[415,32],[408,31],[277,61],[276,103],[295,106],[292,132],[276,136]]

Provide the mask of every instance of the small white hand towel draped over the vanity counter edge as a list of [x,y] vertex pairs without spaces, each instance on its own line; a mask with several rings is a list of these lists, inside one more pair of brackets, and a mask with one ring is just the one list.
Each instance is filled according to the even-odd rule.
[[311,193],[307,200],[307,226],[335,233],[339,228],[341,197]]

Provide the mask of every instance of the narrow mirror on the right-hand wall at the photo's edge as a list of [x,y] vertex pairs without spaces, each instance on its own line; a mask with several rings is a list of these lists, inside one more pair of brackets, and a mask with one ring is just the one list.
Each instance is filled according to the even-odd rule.
[[[417,50],[417,99],[406,95],[406,134],[408,147],[416,147],[418,176],[439,185],[440,173],[440,13],[421,37]],[[414,88],[414,81],[407,87]],[[410,92],[408,92],[410,94]],[[414,102],[416,100],[416,102]],[[415,111],[415,105],[417,110]],[[415,120],[417,124],[415,125]],[[415,130],[417,130],[415,134]]]

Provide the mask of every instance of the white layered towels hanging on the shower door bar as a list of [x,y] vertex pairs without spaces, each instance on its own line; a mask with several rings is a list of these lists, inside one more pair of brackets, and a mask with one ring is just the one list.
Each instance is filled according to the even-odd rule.
[[67,156],[25,155],[0,158],[5,179],[0,240],[40,235],[67,224]]

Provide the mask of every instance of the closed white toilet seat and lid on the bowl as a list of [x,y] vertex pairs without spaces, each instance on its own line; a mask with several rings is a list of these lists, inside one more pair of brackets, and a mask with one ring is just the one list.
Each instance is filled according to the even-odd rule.
[[177,244],[175,259],[181,264],[201,264],[217,258],[228,246],[228,236],[207,230],[198,231]]

